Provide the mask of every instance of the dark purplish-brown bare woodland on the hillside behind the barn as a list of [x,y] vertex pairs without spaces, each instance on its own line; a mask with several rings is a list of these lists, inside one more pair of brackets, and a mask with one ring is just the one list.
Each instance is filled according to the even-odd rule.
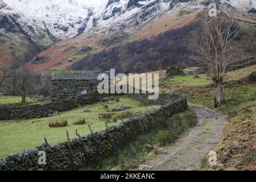
[[195,22],[150,39],[104,49],[77,61],[68,69],[108,71],[115,68],[120,73],[142,73],[167,69],[170,65],[181,65],[184,61],[195,65],[187,56],[191,53],[187,47],[187,35],[198,26],[200,22]]

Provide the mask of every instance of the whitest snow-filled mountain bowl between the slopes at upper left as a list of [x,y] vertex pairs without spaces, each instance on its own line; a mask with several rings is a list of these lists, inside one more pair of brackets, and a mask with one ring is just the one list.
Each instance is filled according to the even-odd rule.
[[71,38],[84,32],[92,11],[108,0],[3,0],[15,11],[40,22],[57,38]]

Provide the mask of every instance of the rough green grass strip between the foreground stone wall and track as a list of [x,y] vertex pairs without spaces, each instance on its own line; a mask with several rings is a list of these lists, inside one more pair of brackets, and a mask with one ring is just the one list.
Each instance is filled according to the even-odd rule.
[[155,155],[161,154],[164,147],[175,142],[188,127],[195,125],[196,115],[187,110],[167,120],[160,119],[158,123],[159,126],[155,126],[153,131],[136,138],[124,150],[118,151],[116,156],[102,162],[103,166],[100,169],[126,171],[137,168],[147,160],[153,159]]

